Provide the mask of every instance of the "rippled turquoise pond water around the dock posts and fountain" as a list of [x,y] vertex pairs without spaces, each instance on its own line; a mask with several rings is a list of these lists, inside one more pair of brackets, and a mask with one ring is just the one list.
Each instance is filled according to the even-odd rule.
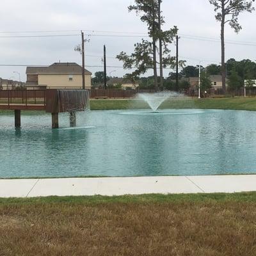
[[0,177],[256,173],[256,112],[90,111],[75,129],[60,115],[0,115]]

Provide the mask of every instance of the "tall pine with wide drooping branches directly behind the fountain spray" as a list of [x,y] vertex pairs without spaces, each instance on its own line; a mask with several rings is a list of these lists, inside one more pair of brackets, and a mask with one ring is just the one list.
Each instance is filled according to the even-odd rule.
[[[159,3],[160,1],[160,3]],[[124,62],[125,69],[131,69],[135,67],[136,70],[132,72],[131,76],[134,79],[138,79],[141,74],[145,74],[148,69],[154,69],[154,85],[158,88],[158,76],[157,76],[157,41],[159,41],[162,54],[159,58],[163,60],[164,67],[175,67],[175,57],[170,56],[170,49],[168,45],[173,42],[173,38],[177,35],[177,27],[173,27],[168,31],[161,30],[161,24],[164,24],[161,10],[159,10],[162,0],[135,0],[135,4],[128,7],[129,12],[135,11],[137,15],[140,15],[142,22],[147,23],[148,36],[151,40],[142,39],[141,43],[134,45],[134,53],[128,55],[126,52],[120,52],[116,58]],[[161,43],[160,43],[161,41]],[[160,51],[161,52],[161,51]],[[183,65],[184,61],[180,61],[180,65]],[[160,79],[161,81],[161,79]]]

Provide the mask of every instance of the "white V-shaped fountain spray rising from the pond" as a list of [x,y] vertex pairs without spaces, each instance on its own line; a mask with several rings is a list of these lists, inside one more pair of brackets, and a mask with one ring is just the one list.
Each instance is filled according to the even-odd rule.
[[157,93],[139,93],[139,99],[145,100],[148,106],[152,109],[153,112],[157,112],[157,109],[161,104],[170,98],[180,97],[180,94],[177,92],[157,92]]

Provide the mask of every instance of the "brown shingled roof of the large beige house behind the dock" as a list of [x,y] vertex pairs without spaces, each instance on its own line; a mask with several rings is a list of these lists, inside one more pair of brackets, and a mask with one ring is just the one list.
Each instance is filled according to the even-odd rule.
[[[53,63],[49,67],[27,67],[26,74],[38,75],[38,74],[82,74],[83,67],[77,63]],[[92,73],[84,69],[85,74]]]

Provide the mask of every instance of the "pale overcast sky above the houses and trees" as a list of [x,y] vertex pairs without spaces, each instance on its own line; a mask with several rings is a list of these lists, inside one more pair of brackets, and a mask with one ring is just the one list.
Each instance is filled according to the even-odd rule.
[[[58,61],[81,64],[81,55],[74,51],[74,47],[81,44],[81,30],[90,40],[85,44],[86,68],[93,74],[103,71],[105,44],[108,75],[124,76],[129,70],[122,68],[116,55],[121,51],[131,54],[134,44],[140,42],[142,36],[147,38],[147,26],[136,13],[127,10],[133,2],[1,0],[0,77],[19,80],[19,74],[15,73],[19,72],[21,81],[26,81],[27,65],[51,65]],[[216,22],[214,7],[208,0],[163,0],[162,10],[166,21],[163,29],[179,28],[180,60],[186,60],[186,65],[198,65],[200,61],[204,66],[220,63],[220,23]],[[256,60],[255,21],[256,12],[242,13],[239,22],[243,30],[239,34],[226,26],[226,60]],[[170,45],[170,49],[175,56],[175,44]],[[164,70],[164,76],[171,71]],[[145,74],[150,75],[152,70]]]

